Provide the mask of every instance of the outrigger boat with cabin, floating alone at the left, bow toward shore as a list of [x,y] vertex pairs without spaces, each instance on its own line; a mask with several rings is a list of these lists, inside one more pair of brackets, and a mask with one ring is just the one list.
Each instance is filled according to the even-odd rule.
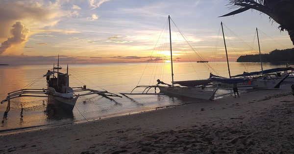
[[[47,74],[43,77],[47,77],[47,89],[21,89],[8,93],[5,100],[2,100],[1,103],[8,102],[10,100],[20,98],[20,97],[44,97],[44,98],[53,98],[55,102],[59,103],[60,106],[66,111],[73,111],[73,107],[80,96],[86,95],[100,95],[104,98],[107,98],[115,103],[114,99],[110,97],[121,97],[117,94],[110,93],[108,91],[98,91],[93,89],[86,88],[86,85],[83,87],[70,87],[69,86],[69,69],[67,65],[67,72],[61,73],[59,70],[62,68],[59,66],[59,55],[57,67],[53,65],[53,71],[48,70]],[[55,76],[56,75],[56,76]],[[78,92],[88,92],[83,94],[77,94]],[[118,103],[117,103],[118,104]]]

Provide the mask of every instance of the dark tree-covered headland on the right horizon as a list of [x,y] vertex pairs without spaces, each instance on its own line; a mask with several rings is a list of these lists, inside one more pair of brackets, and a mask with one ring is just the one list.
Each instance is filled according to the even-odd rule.
[[[262,62],[270,63],[282,63],[282,62],[294,62],[294,48],[285,50],[274,50],[270,53],[261,54]],[[241,55],[237,62],[260,62],[259,54]]]

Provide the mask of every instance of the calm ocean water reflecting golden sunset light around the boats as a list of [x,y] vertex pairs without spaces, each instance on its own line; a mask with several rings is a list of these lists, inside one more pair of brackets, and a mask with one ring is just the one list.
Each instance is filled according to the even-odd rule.
[[[209,65],[209,66],[207,66]],[[61,72],[66,72],[66,65]],[[211,67],[211,68],[210,68]],[[231,62],[231,74],[241,74],[243,71],[259,71],[259,63]],[[284,65],[264,64],[264,69],[284,67]],[[21,88],[46,88],[46,78],[43,75],[51,65],[27,66],[0,66],[0,100],[8,92]],[[139,82],[139,85],[156,84],[159,78],[171,83],[170,63],[123,63],[123,64],[73,64],[69,65],[70,86],[87,85],[87,88],[119,93],[130,92]],[[204,63],[174,63],[174,80],[205,79],[209,73],[228,77],[225,62]],[[28,85],[29,83],[33,85]],[[221,93],[221,92],[219,92]],[[130,96],[135,101],[125,97],[114,98],[122,105],[116,105],[98,95],[80,97],[73,109],[73,114],[47,104],[47,98],[19,98],[11,101],[7,119],[0,123],[0,130],[10,128],[24,128],[40,125],[64,124],[83,122],[85,120],[122,115],[160,106],[177,105],[187,102],[200,102],[201,100],[181,100],[167,96]],[[0,117],[7,103],[0,104]],[[23,110],[22,110],[23,108]]]

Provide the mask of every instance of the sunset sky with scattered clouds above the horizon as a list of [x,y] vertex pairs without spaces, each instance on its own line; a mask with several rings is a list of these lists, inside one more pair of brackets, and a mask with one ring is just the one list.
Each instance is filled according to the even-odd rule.
[[[0,63],[225,61],[293,48],[265,14],[229,13],[228,0],[0,0]],[[173,24],[175,23],[175,25]],[[179,30],[178,30],[179,29]],[[184,37],[182,37],[182,35]]]

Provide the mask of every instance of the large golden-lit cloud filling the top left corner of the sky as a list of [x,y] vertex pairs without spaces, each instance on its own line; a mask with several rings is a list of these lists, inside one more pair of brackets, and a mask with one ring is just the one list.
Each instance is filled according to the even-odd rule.
[[61,10],[60,1],[0,0],[0,39],[10,36],[10,26],[20,21],[34,32],[42,27],[56,25],[68,13]]

